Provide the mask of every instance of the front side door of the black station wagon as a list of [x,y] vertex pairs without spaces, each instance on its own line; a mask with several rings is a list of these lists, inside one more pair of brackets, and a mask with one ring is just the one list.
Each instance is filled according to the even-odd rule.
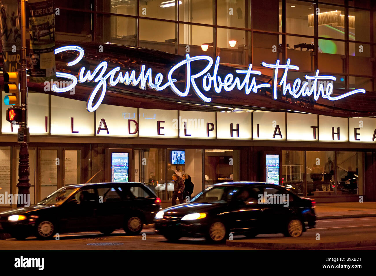
[[61,206],[61,228],[74,232],[97,229],[98,204],[95,189],[78,190]]

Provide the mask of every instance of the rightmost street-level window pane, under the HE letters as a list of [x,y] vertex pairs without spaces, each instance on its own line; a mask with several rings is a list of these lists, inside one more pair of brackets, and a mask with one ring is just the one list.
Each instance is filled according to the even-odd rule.
[[337,195],[363,195],[363,152],[337,152]]

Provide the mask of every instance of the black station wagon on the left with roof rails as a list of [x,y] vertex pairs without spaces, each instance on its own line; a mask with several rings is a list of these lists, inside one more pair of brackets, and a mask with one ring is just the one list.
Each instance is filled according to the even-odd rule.
[[17,239],[35,235],[53,238],[56,233],[100,231],[111,234],[123,228],[137,235],[153,223],[161,199],[143,183],[115,182],[62,187],[41,202],[0,213],[3,229]]

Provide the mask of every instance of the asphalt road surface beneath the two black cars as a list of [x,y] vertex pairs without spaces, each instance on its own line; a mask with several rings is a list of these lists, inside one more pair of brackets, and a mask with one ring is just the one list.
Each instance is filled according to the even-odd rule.
[[[298,240],[312,240],[320,234],[321,241],[330,241],[333,237],[344,240],[376,240],[376,217],[317,220],[316,228],[309,229]],[[282,234],[258,235],[257,238],[283,239]],[[244,239],[235,236],[234,239]],[[113,243],[103,245],[102,243]],[[94,244],[94,245],[88,245]],[[163,236],[156,235],[154,229],[144,229],[141,235],[127,236],[118,230],[111,235],[100,232],[61,234],[59,240],[39,241],[34,237],[18,241],[15,239],[0,240],[0,250],[247,250],[247,247],[230,247],[212,245],[203,238],[181,238],[176,243],[168,242]],[[376,249],[376,246],[346,249]]]

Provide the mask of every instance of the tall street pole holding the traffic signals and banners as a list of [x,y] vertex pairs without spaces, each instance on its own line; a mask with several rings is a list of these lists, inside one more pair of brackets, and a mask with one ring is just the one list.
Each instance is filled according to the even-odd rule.
[[[24,207],[25,201],[30,199],[30,165],[29,165],[29,128],[27,127],[27,83],[26,83],[26,1],[21,0],[21,109],[22,122],[18,129],[20,143],[20,163],[18,164],[18,194],[23,195],[23,202],[18,201],[17,207]],[[18,197],[20,198],[20,197]],[[30,203],[30,202],[28,202]]]

